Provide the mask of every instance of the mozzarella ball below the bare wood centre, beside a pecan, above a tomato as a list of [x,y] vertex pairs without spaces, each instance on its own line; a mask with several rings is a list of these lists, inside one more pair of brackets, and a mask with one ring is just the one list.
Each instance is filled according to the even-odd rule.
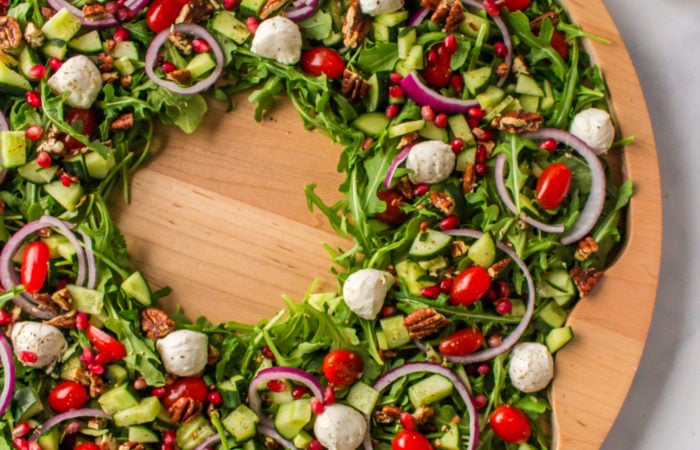
[[158,339],[156,348],[165,370],[179,377],[199,375],[207,365],[209,340],[199,331],[177,330]]

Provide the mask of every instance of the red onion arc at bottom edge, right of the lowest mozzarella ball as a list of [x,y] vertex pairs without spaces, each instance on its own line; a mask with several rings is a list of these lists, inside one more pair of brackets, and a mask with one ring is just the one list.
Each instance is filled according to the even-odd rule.
[[452,370],[430,362],[406,363],[402,366],[391,369],[379,377],[377,382],[374,383],[374,389],[381,392],[400,378],[422,372],[436,373],[438,375],[442,375],[452,382],[457,390],[457,393],[460,397],[462,397],[462,400],[464,400],[464,403],[467,406],[467,413],[469,414],[469,430],[471,431],[471,435],[469,436],[469,443],[465,447],[465,450],[475,450],[479,445],[479,415],[476,412],[476,406],[474,406],[469,390]]

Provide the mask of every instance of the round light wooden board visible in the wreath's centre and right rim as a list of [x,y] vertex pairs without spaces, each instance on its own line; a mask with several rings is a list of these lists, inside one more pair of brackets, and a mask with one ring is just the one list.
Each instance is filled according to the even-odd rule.
[[[628,242],[604,281],[569,319],[576,338],[557,354],[552,402],[558,448],[599,448],[634,377],[651,320],[661,253],[661,194],[656,149],[629,55],[600,0],[571,0],[575,22],[611,44],[588,43],[610,87],[623,136],[622,160],[635,181]],[[340,148],[303,129],[289,102],[256,123],[244,97],[234,111],[212,102],[193,135],[158,129],[156,155],[132,183],[129,206],[115,205],[136,264],[157,286],[173,288],[171,307],[191,317],[254,323],[301,299],[335,289],[322,247],[347,246],[303,187],[317,183],[327,202],[340,198]]]

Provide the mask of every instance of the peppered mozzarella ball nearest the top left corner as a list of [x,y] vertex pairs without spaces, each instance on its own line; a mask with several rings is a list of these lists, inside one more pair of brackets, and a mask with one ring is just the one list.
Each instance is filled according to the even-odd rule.
[[69,92],[66,104],[75,108],[90,108],[102,89],[102,76],[90,58],[73,56],[63,62],[61,68],[48,81],[56,95]]

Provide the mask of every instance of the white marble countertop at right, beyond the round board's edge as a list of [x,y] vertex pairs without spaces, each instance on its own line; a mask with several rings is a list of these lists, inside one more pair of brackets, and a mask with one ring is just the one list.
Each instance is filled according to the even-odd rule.
[[644,89],[663,191],[656,309],[604,450],[700,449],[700,1],[605,0]]

